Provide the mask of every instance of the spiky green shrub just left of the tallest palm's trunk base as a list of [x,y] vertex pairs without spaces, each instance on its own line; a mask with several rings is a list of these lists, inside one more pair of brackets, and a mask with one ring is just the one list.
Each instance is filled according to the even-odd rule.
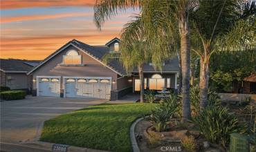
[[176,111],[179,106],[175,95],[170,95],[170,98],[163,99],[163,102],[152,111],[149,115],[149,121],[152,122],[156,131],[161,132],[166,130],[167,122]]

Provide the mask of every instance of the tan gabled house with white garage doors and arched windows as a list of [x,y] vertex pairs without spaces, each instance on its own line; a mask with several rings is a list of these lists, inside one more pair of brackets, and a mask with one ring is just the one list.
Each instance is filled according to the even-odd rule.
[[[119,44],[118,38],[104,46],[89,46],[75,39],[69,41],[27,73],[33,77],[33,95],[116,100],[139,91],[138,70],[127,75],[118,59],[109,64],[102,62],[107,53],[120,53]],[[145,64],[145,88],[177,89],[178,58],[164,64],[163,71]]]

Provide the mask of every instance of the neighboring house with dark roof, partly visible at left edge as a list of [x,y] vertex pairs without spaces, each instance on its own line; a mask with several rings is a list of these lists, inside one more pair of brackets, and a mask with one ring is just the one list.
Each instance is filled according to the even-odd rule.
[[8,86],[13,90],[26,90],[29,93],[31,81],[26,73],[38,64],[39,61],[0,59],[1,86]]

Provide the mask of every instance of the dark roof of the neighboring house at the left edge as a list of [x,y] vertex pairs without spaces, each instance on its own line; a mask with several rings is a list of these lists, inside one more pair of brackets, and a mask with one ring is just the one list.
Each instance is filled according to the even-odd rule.
[[39,60],[0,59],[0,70],[5,73],[27,73],[39,62]]

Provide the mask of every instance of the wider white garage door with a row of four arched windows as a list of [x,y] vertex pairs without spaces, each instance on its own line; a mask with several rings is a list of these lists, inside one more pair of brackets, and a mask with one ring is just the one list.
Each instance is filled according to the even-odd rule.
[[110,99],[111,79],[65,78],[66,97]]

